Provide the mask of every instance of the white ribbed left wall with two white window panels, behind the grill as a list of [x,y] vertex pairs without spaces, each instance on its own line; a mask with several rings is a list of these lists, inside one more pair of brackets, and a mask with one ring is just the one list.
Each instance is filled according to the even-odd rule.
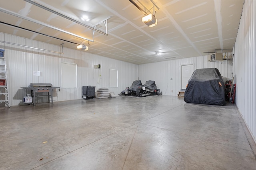
[[[58,45],[5,33],[0,33],[0,40],[50,51],[60,51]],[[30,90],[20,87],[28,87],[30,83],[51,83],[53,86],[61,87],[61,62],[77,64],[78,88],[61,88],[60,92],[54,93],[54,101],[82,99],[82,86],[96,86],[96,90],[101,87],[109,88],[110,68],[118,70],[118,87],[109,88],[109,91],[116,95],[138,79],[137,64],[101,57],[84,51],[64,48],[64,55],[60,55],[7,43],[0,43],[0,49],[5,50],[11,106],[23,104],[22,99],[26,93],[30,93]],[[94,69],[94,65],[98,64],[101,64],[101,69]],[[41,76],[33,76],[33,71],[40,71]]]

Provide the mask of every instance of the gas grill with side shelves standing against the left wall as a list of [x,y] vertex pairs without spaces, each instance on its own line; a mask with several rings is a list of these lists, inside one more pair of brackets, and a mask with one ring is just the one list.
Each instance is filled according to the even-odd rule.
[[[50,103],[50,97],[51,101],[53,96],[53,90],[58,88],[60,91],[60,87],[53,87],[50,83],[30,83],[28,87],[21,87],[23,89],[31,90],[31,95],[33,98],[33,105],[36,106],[36,98],[38,97],[48,97],[48,102]],[[45,93],[48,93],[45,95]]]

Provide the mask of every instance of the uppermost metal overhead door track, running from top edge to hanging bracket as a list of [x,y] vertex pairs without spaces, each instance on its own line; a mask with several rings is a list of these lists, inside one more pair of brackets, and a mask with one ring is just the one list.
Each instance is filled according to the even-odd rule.
[[[31,0],[24,0],[24,1],[26,1],[26,2],[28,2],[28,3],[30,3],[30,4],[33,4],[33,5],[35,5],[35,6],[38,6],[38,7],[42,8],[42,9],[44,9],[44,10],[47,10],[47,11],[49,11],[49,12],[52,12],[52,13],[58,15],[58,16],[61,16],[61,17],[63,17],[63,18],[66,18],[66,19],[68,19],[68,20],[70,20],[70,21],[73,21],[73,22],[75,22],[75,23],[78,23],[78,24],[80,24],[80,25],[82,25],[82,26],[84,26],[84,27],[87,27],[87,28],[89,28],[89,29],[92,29],[92,30],[94,30],[94,31],[97,31],[98,33],[102,33],[102,34],[104,34],[104,35],[108,35],[107,33],[104,33],[104,32],[102,32],[102,31],[99,31],[98,29],[95,29],[95,28],[93,28],[93,27],[90,27],[90,26],[88,26],[88,25],[86,25],[86,24],[84,24],[84,23],[82,23],[82,22],[76,21],[76,20],[74,20],[74,19],[72,19],[72,18],[70,18],[70,17],[68,17],[68,16],[65,16],[65,15],[63,15],[63,14],[60,14],[59,12],[56,12],[56,11],[54,11],[54,10],[51,10],[50,8],[47,8],[47,7],[45,7],[45,6],[42,6],[42,5],[40,5],[40,4],[36,3],[36,2],[33,2],[33,1],[31,1]],[[107,29],[107,27],[106,27],[106,29]],[[106,32],[107,32],[107,30],[106,30]]]

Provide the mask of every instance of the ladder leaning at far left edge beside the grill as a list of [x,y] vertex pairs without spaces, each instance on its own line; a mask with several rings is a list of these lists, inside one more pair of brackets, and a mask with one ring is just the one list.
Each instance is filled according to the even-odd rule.
[[4,105],[0,106],[10,107],[7,83],[7,70],[6,62],[4,59],[4,50],[0,49],[0,104],[4,103]]

